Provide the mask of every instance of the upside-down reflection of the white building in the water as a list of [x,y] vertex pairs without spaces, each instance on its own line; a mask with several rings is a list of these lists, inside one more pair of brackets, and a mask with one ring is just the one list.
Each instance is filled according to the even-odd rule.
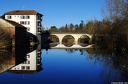
[[12,67],[8,72],[19,74],[34,74],[42,70],[41,47],[26,55],[26,60],[17,66]]

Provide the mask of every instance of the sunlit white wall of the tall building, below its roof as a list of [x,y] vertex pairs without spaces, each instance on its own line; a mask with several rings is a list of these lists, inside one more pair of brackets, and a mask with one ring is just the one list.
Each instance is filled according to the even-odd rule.
[[[8,18],[8,16],[11,16],[11,18]],[[25,17],[24,19],[22,17]],[[29,19],[26,18],[29,16]],[[41,36],[40,31],[41,30],[41,16],[39,15],[5,15],[5,19],[15,21],[19,24],[22,24],[22,22],[29,22],[29,24],[22,24],[27,28],[27,31],[32,33],[33,35],[36,35],[38,38],[38,41],[41,43]]]

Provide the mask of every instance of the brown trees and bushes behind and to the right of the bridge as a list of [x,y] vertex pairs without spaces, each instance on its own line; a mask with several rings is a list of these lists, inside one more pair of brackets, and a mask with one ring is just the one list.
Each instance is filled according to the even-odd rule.
[[105,0],[103,20],[90,20],[86,24],[66,24],[60,28],[51,26],[51,33],[93,34],[92,42],[102,49],[127,54],[128,52],[128,0]]

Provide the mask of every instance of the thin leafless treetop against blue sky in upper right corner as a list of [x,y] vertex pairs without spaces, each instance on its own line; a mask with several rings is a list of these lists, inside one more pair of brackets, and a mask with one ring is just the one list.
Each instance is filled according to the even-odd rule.
[[105,0],[106,9],[102,10],[104,17],[112,22],[116,19],[124,19],[127,15],[127,2],[126,0]]

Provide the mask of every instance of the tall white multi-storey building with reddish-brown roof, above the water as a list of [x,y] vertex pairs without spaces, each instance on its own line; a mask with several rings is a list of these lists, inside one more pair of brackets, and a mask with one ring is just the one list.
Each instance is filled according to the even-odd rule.
[[27,31],[36,35],[41,42],[42,14],[35,10],[13,10],[6,12],[5,19],[15,21],[27,28]]

